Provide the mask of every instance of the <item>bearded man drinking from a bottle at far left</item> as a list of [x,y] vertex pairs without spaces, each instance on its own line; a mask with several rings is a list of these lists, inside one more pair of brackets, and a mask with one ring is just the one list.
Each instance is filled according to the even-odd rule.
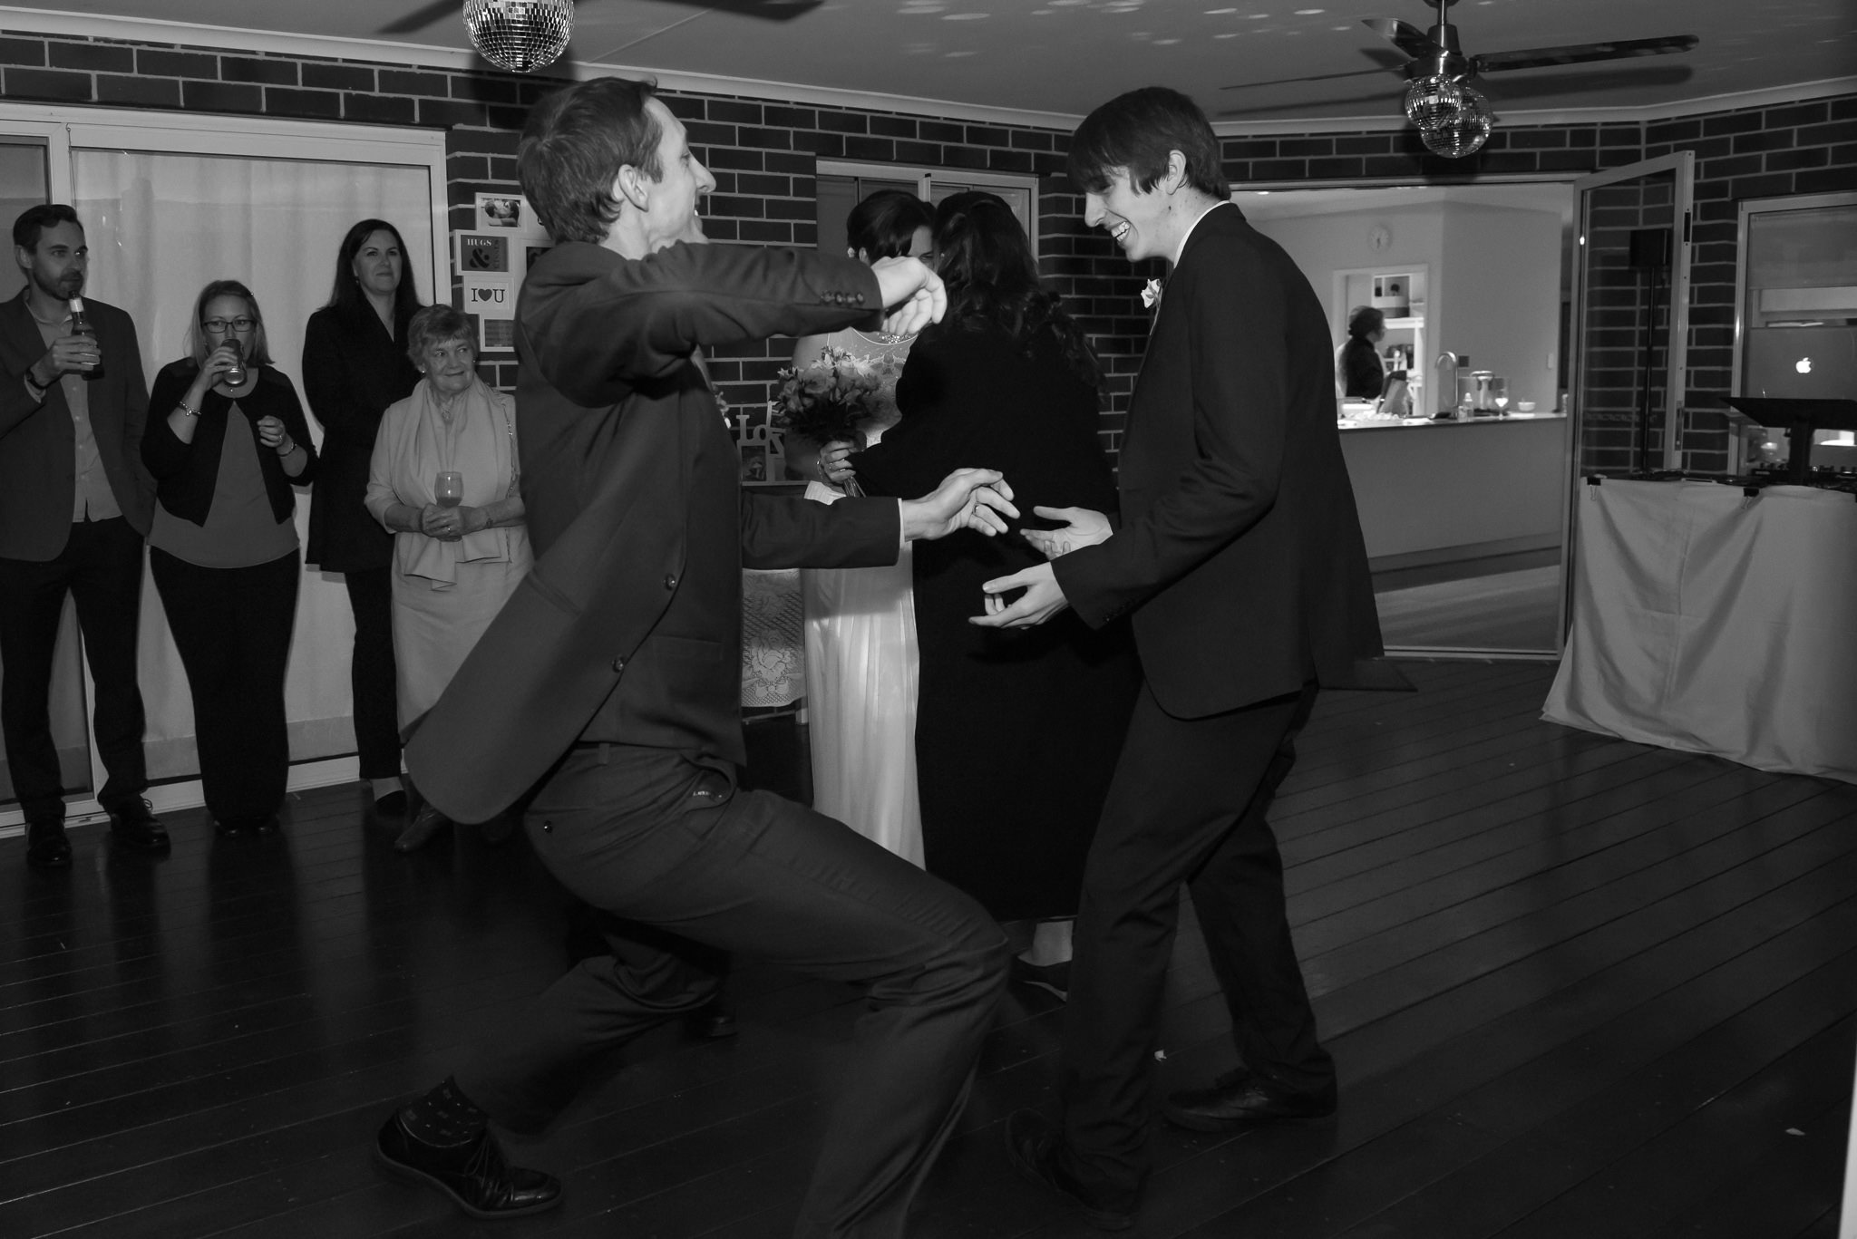
[[0,412],[0,730],[26,814],[26,862],[71,864],[63,780],[52,743],[52,658],[65,594],[78,602],[97,684],[97,749],[110,773],[97,799],[123,847],[162,851],[167,832],[141,799],[136,628],[154,479],[141,464],[149,386],[136,323],[85,301],[95,334],[71,329],[89,247],[76,212],[28,208],[13,223],[26,288],[0,305],[0,385],[28,403]]

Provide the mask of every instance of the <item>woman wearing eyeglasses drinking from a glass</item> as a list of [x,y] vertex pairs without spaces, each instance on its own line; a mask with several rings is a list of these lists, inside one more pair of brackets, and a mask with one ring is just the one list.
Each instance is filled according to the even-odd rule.
[[191,357],[149,394],[149,567],[193,695],[206,808],[223,836],[269,834],[290,741],[284,667],[297,611],[293,485],[316,448],[290,379],[271,368],[251,290],[214,280],[193,305]]

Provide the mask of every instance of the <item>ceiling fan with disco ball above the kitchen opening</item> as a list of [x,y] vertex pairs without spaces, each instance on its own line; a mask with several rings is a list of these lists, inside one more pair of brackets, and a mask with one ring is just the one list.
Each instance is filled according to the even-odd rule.
[[[1432,2],[1428,0],[1428,6]],[[1456,2],[1435,0],[1437,24],[1430,30],[1419,30],[1393,17],[1369,17],[1361,20],[1363,26],[1391,41],[1393,46],[1411,58],[1404,65],[1406,117],[1419,126],[1419,136],[1424,139],[1428,150],[1454,160],[1476,154],[1484,141],[1489,139],[1489,128],[1495,121],[1489,100],[1473,85],[1478,74],[1510,69],[1543,69],[1549,65],[1578,65],[1595,59],[1664,56],[1669,52],[1688,52],[1701,43],[1695,35],[1664,35],[1658,39],[1573,43],[1565,46],[1536,46],[1519,52],[1465,56],[1463,46],[1458,43],[1458,28],[1445,20],[1445,11]],[[1279,82],[1242,82],[1224,89],[1283,85],[1287,82],[1326,82],[1333,78],[1357,78],[1370,72],[1383,72],[1383,69],[1326,72],[1313,78],[1283,78]]]

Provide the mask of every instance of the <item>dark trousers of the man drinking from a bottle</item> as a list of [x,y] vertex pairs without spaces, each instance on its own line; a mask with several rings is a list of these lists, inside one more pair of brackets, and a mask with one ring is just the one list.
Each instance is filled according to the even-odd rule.
[[63,821],[63,780],[52,741],[52,659],[65,594],[78,602],[84,656],[97,682],[91,723],[108,780],[97,799],[121,808],[149,786],[136,684],[141,617],[141,535],[123,516],[78,520],[56,559],[0,559],[0,732],[26,821]]

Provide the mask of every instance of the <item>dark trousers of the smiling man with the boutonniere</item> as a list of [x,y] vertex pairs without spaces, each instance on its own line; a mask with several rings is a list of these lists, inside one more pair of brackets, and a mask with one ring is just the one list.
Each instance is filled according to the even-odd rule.
[[1149,1070],[1181,882],[1244,1066],[1296,1092],[1333,1087],[1265,819],[1313,706],[1307,684],[1207,719],[1175,719],[1142,685],[1084,866],[1064,1007],[1064,1155],[1086,1181],[1133,1193],[1148,1176]]

